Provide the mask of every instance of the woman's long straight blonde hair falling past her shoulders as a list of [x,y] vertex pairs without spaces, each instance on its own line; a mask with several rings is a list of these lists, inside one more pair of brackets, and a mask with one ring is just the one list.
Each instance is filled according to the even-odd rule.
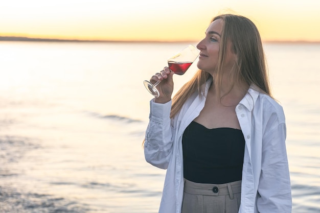
[[209,73],[198,70],[194,77],[182,86],[173,97],[170,117],[173,117],[181,109],[194,92],[198,92],[202,97],[204,92],[202,85],[210,78],[213,78],[213,84],[218,93],[221,93],[227,41],[231,41],[232,50],[237,54],[237,66],[231,76],[234,84],[242,82],[254,85],[260,91],[271,96],[262,41],[255,24],[244,16],[233,14],[218,15],[212,21],[217,19],[222,20],[222,32],[215,75],[212,77]]

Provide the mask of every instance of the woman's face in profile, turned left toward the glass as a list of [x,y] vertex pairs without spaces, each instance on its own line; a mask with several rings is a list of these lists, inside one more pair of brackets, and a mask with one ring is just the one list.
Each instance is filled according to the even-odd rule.
[[[207,31],[205,37],[198,43],[197,48],[200,50],[199,69],[214,74],[219,60],[219,51],[221,43],[222,20],[214,20]],[[227,53],[224,63],[225,70],[230,70],[234,65],[236,55],[231,51],[231,42],[227,43]]]

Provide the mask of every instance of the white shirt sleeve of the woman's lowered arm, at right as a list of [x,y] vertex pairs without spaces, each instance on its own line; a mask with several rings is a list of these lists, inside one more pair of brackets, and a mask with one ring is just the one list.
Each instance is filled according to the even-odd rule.
[[286,125],[277,123],[264,135],[262,167],[258,186],[258,211],[289,213],[292,208]]

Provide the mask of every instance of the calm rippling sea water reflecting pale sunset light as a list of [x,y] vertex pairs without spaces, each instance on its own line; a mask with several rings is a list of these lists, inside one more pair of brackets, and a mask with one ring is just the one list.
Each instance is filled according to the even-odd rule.
[[[165,171],[144,160],[142,82],[186,45],[0,42],[0,213],[157,212]],[[320,212],[320,44],[264,46],[292,212]],[[174,76],[175,91],[196,69]]]

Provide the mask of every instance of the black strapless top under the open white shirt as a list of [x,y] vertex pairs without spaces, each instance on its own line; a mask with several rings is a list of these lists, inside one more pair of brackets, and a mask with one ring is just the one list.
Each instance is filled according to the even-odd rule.
[[214,184],[241,180],[244,144],[240,129],[208,129],[191,122],[182,136],[184,177]]

